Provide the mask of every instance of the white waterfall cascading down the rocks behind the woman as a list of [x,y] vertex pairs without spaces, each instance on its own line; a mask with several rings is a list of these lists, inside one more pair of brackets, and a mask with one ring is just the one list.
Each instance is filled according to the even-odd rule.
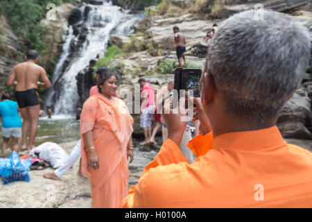
[[[80,8],[81,12],[84,12],[85,8],[89,10],[87,17],[79,22],[80,28],[88,30],[87,36],[81,49],[62,71],[64,62],[71,55],[71,42],[77,38],[71,26],[69,27],[63,53],[55,67],[51,81],[53,88],[46,99],[46,105],[54,105],[55,114],[71,115],[75,112],[79,99],[76,75],[89,65],[90,60],[94,60],[98,55],[104,55],[110,35],[128,35],[133,26],[144,18],[143,13],[129,14],[128,11],[121,10],[119,6],[113,6],[110,1],[102,1],[102,5],[85,4]],[[58,86],[55,87],[55,85]]]

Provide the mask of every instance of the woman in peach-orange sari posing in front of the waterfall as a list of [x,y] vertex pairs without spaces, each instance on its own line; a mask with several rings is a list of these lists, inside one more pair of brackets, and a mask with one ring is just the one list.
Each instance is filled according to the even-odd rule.
[[127,105],[115,98],[117,78],[107,68],[97,72],[99,93],[90,96],[80,116],[82,173],[89,178],[94,208],[119,207],[128,194],[132,162],[132,123]]

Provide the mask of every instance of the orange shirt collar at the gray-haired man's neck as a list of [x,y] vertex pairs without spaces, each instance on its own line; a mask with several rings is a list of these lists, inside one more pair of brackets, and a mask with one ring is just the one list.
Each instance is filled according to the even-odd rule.
[[245,151],[256,151],[283,146],[284,142],[277,126],[261,130],[224,133],[214,137],[213,148],[236,148]]

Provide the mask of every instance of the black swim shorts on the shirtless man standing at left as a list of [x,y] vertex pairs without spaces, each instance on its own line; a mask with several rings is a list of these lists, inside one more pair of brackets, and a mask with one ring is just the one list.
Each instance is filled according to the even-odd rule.
[[26,91],[15,92],[19,108],[26,108],[27,106],[39,105],[36,89],[28,89]]

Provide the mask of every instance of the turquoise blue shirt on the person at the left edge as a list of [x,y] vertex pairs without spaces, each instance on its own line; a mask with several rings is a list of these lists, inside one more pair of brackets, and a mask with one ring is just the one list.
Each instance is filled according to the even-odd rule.
[[21,128],[17,102],[11,100],[0,102],[0,114],[2,116],[3,128]]

